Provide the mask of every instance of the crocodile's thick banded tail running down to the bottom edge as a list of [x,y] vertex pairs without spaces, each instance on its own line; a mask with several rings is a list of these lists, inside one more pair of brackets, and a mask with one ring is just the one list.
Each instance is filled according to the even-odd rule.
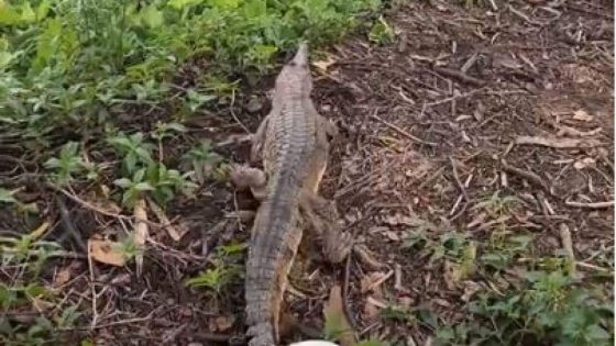
[[250,346],[277,344],[287,275],[301,239],[294,200],[264,201],[254,221],[245,282]]

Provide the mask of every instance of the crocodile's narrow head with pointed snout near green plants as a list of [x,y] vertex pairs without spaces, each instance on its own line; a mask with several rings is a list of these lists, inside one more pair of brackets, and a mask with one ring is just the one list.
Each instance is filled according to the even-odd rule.
[[312,78],[308,66],[308,44],[299,44],[294,58],[287,63],[276,78],[276,89],[295,89],[302,94],[312,90]]

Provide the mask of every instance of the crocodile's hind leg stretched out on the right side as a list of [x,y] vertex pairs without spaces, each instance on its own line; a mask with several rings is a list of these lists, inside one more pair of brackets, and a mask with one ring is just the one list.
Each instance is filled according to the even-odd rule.
[[299,207],[307,230],[321,239],[327,261],[339,264],[346,258],[353,247],[353,238],[342,232],[333,201],[304,190]]

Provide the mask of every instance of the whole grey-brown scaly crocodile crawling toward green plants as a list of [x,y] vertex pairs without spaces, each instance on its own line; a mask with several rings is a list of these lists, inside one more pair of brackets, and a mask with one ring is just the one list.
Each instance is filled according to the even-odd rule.
[[308,45],[304,42],[278,74],[272,110],[253,137],[250,160],[261,161],[263,170],[244,165],[231,172],[237,189],[250,188],[260,200],[245,275],[250,346],[279,343],[280,304],[304,231],[322,241],[326,260],[332,264],[344,259],[351,249],[350,235],[337,223],[333,201],[318,196],[329,137],[338,130],[317,112],[311,89]]

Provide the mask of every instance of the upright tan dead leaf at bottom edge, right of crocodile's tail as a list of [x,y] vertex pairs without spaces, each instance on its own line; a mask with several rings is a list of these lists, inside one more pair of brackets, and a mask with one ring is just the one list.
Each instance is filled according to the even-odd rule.
[[323,315],[326,319],[327,332],[329,334],[336,334],[340,346],[355,345],[355,333],[344,314],[342,289],[340,286],[337,284],[331,288],[329,300],[323,305]]

